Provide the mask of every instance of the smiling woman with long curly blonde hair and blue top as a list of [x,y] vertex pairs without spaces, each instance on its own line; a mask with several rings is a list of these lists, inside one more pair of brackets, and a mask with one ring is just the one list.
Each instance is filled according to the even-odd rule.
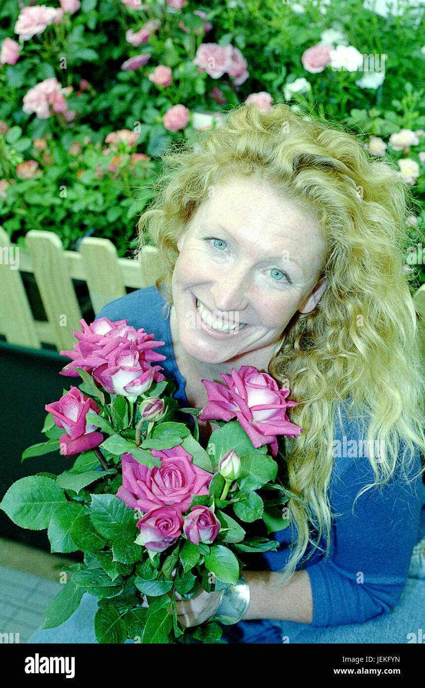
[[[139,226],[164,273],[96,317],[166,342],[182,406],[204,407],[202,380],[242,365],[290,387],[290,420],[305,431],[283,442],[289,488],[312,511],[290,499],[292,528],[272,536],[281,548],[247,555],[226,599],[179,602],[179,621],[221,619],[239,596],[228,642],[406,642],[425,597],[422,581],[405,589],[425,453],[403,269],[410,188],[342,127],[280,104],[243,105],[163,160]],[[200,422],[204,445],[213,429]]]

